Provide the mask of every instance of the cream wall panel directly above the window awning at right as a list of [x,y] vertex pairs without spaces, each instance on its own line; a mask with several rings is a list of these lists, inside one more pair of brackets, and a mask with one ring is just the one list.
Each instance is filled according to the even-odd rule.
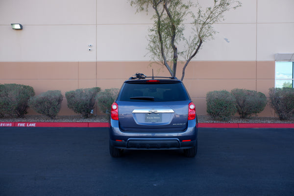
[[273,61],[278,52],[294,52],[294,24],[258,24],[257,32],[258,61]]

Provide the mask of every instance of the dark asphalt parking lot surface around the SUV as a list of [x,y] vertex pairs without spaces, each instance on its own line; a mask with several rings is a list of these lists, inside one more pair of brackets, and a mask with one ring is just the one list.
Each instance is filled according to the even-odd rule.
[[200,128],[181,150],[108,152],[106,128],[0,127],[0,196],[293,196],[294,129]]

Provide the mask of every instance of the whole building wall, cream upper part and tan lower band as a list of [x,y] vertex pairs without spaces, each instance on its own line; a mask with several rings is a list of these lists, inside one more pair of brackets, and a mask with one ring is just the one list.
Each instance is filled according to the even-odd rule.
[[[203,7],[212,2],[199,0]],[[184,83],[198,115],[206,114],[208,91],[245,88],[268,96],[274,54],[294,52],[293,0],[242,3],[214,25],[219,33],[186,69]],[[0,83],[30,85],[36,95],[48,90],[64,95],[78,88],[120,88],[132,74],[151,75],[152,69],[168,76],[165,68],[150,66],[146,55],[150,16],[151,10],[135,14],[127,0],[1,0]],[[13,30],[11,23],[24,29]],[[64,98],[59,115],[73,114],[66,104]],[[273,115],[267,106],[259,116]]]

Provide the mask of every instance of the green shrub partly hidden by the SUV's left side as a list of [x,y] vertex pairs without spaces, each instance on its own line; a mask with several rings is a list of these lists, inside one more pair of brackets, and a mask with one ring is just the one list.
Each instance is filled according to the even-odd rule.
[[104,91],[98,93],[96,97],[97,106],[99,110],[105,114],[109,114],[111,109],[111,104],[116,99],[119,94],[119,89],[105,89]]

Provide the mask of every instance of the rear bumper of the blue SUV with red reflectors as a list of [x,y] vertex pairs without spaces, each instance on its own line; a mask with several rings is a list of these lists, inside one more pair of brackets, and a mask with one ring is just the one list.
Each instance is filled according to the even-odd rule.
[[197,123],[188,121],[185,131],[172,133],[123,132],[118,121],[111,120],[110,144],[121,149],[185,149],[196,146]]

